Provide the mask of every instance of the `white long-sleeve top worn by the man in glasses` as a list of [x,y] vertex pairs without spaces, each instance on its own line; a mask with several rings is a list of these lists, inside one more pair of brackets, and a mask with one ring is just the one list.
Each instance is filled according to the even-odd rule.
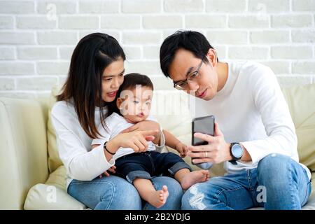
[[[195,117],[214,115],[227,142],[240,142],[251,162],[225,162],[228,173],[255,168],[266,155],[280,153],[299,162],[288,104],[273,71],[255,62],[229,62],[228,80],[216,96],[195,98]],[[302,165],[302,164],[301,164]],[[307,170],[309,178],[311,173]]]

